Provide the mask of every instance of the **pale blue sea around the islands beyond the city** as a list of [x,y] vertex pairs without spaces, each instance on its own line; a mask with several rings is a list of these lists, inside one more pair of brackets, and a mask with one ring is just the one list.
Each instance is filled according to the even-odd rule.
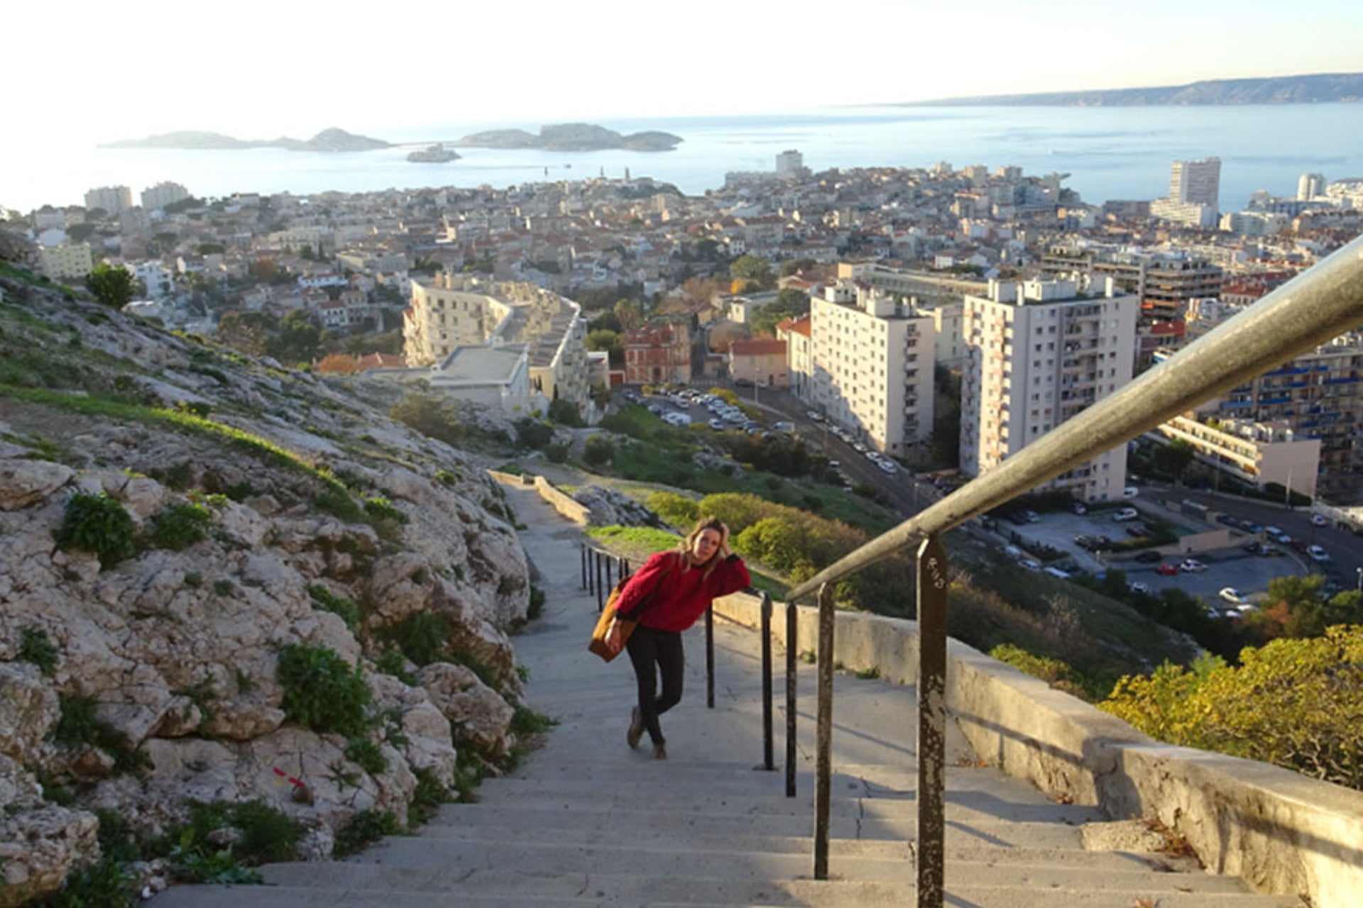
[[[724,185],[736,170],[774,170],[796,150],[807,167],[954,167],[1005,165],[1026,176],[1067,174],[1062,185],[1089,203],[1168,193],[1175,159],[1221,158],[1221,210],[1244,207],[1266,189],[1295,196],[1302,173],[1328,181],[1363,178],[1363,103],[1024,108],[861,106],[714,117],[598,120],[622,133],[661,129],[682,136],[672,151],[500,151],[459,148],[448,163],[413,163],[406,154],[488,128],[541,124],[455,121],[401,129],[337,124],[398,147],[326,154],[256,148],[183,151],[45,144],[8,139],[0,147],[0,206],[22,212],[82,204],[95,187],[138,193],[161,181],[204,199],[237,192],[312,195],[427,187],[506,188],[600,176],[652,177],[686,195]],[[120,139],[139,136],[117,136]],[[251,139],[258,136],[241,135]],[[298,135],[296,137],[307,137]]]

